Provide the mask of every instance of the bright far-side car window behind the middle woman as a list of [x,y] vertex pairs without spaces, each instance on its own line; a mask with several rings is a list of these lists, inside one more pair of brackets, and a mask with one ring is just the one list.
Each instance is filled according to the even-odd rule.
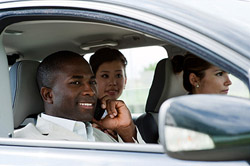
[[[161,46],[121,49],[120,51],[128,61],[127,84],[120,99],[126,102],[132,113],[143,113],[156,64],[161,59],[167,58],[168,54]],[[86,54],[84,58],[89,61],[91,55]]]

